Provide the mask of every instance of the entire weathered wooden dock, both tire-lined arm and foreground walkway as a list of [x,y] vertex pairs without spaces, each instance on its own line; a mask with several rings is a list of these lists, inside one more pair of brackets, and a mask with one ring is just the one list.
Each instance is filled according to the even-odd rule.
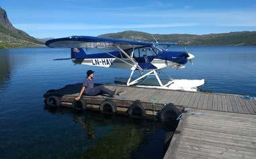
[[[87,108],[102,111],[102,103],[111,101],[114,113],[127,114],[136,100],[146,116],[159,116],[169,103],[174,112],[191,108],[183,114],[164,158],[256,158],[255,100],[235,94],[104,86],[124,93],[114,98],[83,96]],[[61,106],[73,107],[80,90],[81,84],[68,85],[48,91],[44,98],[58,96]]]

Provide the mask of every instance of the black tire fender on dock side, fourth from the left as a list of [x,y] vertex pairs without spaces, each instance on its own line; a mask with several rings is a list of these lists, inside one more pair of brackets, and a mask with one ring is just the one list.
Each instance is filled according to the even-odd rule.
[[142,119],[146,116],[146,110],[140,103],[140,100],[136,100],[133,104],[128,108],[128,116],[130,118]]

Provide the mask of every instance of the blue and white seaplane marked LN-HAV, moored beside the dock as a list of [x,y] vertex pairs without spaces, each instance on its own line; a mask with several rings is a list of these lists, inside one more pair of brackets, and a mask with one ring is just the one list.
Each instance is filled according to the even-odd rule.
[[[154,37],[155,38],[155,37]],[[163,71],[164,68],[183,69],[187,61],[192,63],[194,55],[185,51],[173,51],[177,43],[159,43],[114,39],[106,37],[71,36],[50,39],[48,47],[69,47],[75,64],[130,70],[127,78],[116,77],[115,82],[126,86],[161,88],[167,90],[185,90],[196,92],[205,84],[204,79],[173,79]],[[98,52],[89,53],[90,49]],[[58,60],[58,59],[57,59]],[[134,77],[134,73],[138,76]],[[161,79],[159,73],[167,76]],[[148,78],[149,76],[155,78]]]

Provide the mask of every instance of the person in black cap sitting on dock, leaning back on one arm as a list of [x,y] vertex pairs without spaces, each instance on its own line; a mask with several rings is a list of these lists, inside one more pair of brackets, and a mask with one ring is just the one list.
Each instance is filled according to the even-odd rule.
[[116,90],[109,90],[108,88],[105,88],[103,85],[94,87],[93,73],[94,71],[92,70],[87,71],[87,77],[83,80],[83,87],[81,89],[81,92],[79,96],[75,98],[75,100],[79,100],[83,94],[85,94],[85,96],[97,96],[101,94],[108,94],[110,97],[114,97],[114,95],[120,93]]

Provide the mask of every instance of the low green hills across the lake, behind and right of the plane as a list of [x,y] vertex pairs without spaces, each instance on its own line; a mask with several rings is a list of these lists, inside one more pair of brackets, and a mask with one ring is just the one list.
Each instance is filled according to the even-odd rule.
[[[194,34],[153,34],[159,42],[177,42],[180,45],[256,45],[256,31],[237,31],[230,33]],[[136,41],[155,42],[151,33],[141,31],[122,31],[106,33],[99,37],[131,39]]]

